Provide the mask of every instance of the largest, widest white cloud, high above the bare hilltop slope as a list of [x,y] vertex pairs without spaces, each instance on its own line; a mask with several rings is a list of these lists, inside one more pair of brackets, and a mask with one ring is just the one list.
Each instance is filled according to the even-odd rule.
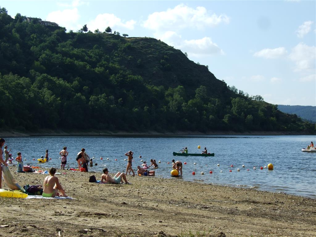
[[155,31],[166,31],[187,27],[213,27],[222,22],[229,23],[229,17],[225,14],[216,15],[214,13],[210,15],[204,7],[193,9],[184,4],[179,4],[173,9],[150,14],[148,19],[143,22],[143,27]]

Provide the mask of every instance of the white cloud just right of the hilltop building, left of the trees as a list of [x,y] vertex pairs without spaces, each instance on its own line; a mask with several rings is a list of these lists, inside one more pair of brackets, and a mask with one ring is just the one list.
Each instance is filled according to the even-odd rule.
[[49,13],[46,17],[47,21],[52,21],[58,23],[61,27],[66,27],[67,31],[78,30],[82,26],[77,24],[80,18],[79,11],[77,8],[58,10]]

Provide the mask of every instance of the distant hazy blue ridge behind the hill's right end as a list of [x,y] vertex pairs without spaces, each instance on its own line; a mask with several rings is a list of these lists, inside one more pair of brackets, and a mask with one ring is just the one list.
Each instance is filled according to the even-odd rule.
[[278,105],[277,108],[283,113],[296,114],[301,119],[316,123],[316,106]]

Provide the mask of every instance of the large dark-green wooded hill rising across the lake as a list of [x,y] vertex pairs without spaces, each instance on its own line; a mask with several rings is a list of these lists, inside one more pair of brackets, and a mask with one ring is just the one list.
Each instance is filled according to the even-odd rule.
[[315,132],[160,40],[66,33],[0,12],[1,129]]

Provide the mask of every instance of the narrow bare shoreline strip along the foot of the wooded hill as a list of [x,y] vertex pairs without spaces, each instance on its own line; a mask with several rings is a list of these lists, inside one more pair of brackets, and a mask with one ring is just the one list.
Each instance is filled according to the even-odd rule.
[[316,134],[306,134],[298,132],[275,132],[275,131],[212,131],[208,133],[178,131],[174,133],[160,133],[156,131],[148,132],[126,132],[126,131],[61,131],[61,130],[41,130],[38,132],[21,132],[21,131],[1,131],[0,137],[200,137],[200,136],[313,136]]

